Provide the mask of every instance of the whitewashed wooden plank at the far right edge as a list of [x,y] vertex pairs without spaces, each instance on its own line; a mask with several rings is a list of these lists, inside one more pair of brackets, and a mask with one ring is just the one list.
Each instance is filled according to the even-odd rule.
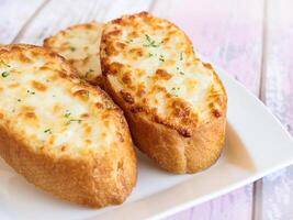
[[[266,8],[262,98],[293,134],[293,2],[268,0]],[[293,219],[292,189],[293,166],[264,177],[256,219]]]

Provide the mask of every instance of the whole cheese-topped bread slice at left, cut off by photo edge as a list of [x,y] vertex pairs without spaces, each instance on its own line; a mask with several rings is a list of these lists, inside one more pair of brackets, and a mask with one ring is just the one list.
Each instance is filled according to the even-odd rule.
[[123,202],[136,183],[122,111],[43,47],[0,47],[0,155],[34,185],[91,207]]

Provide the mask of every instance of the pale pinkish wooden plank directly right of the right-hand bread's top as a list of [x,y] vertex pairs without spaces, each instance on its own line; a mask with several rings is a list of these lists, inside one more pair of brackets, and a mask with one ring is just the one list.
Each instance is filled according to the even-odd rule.
[[[206,61],[259,95],[263,1],[156,1],[151,10],[183,29]],[[251,219],[252,184],[168,219]]]

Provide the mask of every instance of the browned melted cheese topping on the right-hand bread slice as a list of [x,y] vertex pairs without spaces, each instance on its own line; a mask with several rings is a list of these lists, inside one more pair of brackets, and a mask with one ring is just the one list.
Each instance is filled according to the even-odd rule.
[[226,111],[225,90],[187,35],[143,12],[108,23],[102,68],[127,108],[190,135],[192,128]]

